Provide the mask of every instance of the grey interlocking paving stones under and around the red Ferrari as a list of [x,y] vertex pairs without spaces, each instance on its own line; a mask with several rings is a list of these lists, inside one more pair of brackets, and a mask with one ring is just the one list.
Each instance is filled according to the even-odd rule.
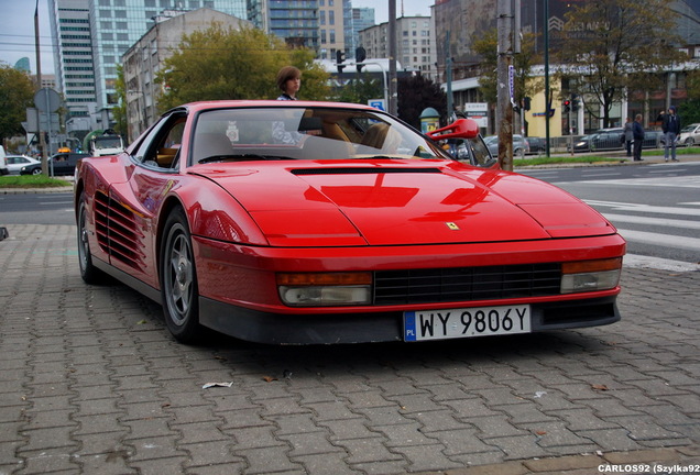
[[603,328],[184,346],[157,305],[83,283],[74,227],[8,230],[2,475],[700,471],[699,272],[626,269]]

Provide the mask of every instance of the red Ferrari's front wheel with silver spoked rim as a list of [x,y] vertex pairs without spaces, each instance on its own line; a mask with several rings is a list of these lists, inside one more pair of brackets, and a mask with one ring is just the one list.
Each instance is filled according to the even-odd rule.
[[165,221],[161,245],[161,298],[165,323],[182,343],[195,343],[201,334],[199,291],[185,212],[177,208]]

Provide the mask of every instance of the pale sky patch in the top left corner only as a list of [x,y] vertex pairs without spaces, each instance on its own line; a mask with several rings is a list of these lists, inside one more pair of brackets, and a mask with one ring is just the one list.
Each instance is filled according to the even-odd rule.
[[[0,62],[14,66],[20,58],[29,57],[32,74],[36,73],[35,10],[35,0],[0,0]],[[39,21],[42,75],[54,74],[46,0],[39,0]]]

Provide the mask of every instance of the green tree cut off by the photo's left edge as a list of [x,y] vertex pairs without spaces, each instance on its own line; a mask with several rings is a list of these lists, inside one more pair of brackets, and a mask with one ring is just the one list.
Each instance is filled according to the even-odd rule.
[[24,134],[26,108],[34,104],[34,85],[26,73],[0,64],[0,139]]

